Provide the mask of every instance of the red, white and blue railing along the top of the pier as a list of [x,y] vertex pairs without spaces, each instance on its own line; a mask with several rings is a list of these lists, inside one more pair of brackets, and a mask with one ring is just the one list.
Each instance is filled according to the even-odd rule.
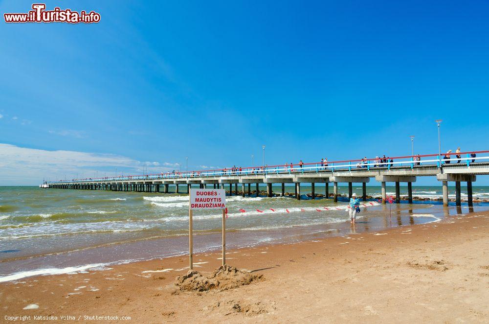
[[[251,166],[214,169],[214,170],[198,170],[198,171],[183,171],[183,172],[167,172],[147,175],[128,175],[103,178],[87,178],[73,179],[47,182],[48,184],[56,183],[86,183],[86,182],[111,182],[111,181],[134,181],[134,180],[188,180],[194,177],[236,177],[236,176],[253,176],[253,175],[272,175],[272,174],[300,174],[300,173],[319,173],[330,172],[337,170],[390,170],[391,168],[418,168],[418,167],[443,167],[448,165],[476,165],[480,162],[489,161],[489,151],[471,151],[460,153],[442,153],[426,154],[415,156],[388,157],[387,161],[381,158],[359,159],[359,160],[344,160],[344,161],[324,161],[312,163],[296,163],[296,164],[279,164],[265,166]],[[477,156],[477,155],[483,156]],[[460,156],[460,158],[457,157]],[[418,160],[419,159],[419,160]],[[391,162],[392,160],[392,162]]]

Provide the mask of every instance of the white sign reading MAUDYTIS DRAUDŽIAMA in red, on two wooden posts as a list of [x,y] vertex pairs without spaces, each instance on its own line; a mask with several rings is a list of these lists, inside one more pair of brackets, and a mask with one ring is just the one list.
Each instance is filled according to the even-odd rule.
[[222,265],[226,263],[226,191],[225,189],[190,189],[189,195],[189,261],[194,270],[193,211],[196,209],[222,209]]

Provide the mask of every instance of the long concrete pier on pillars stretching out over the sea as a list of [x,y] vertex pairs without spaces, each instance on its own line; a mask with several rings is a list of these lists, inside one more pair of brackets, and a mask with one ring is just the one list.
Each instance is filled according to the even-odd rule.
[[[489,153],[478,151],[476,153]],[[433,157],[427,155],[424,157]],[[396,203],[400,202],[400,183],[407,183],[409,203],[413,201],[412,183],[417,177],[436,177],[442,184],[443,204],[448,205],[448,183],[455,182],[456,205],[461,205],[461,183],[467,183],[468,205],[472,206],[472,182],[477,175],[489,174],[489,156],[478,158],[469,157],[459,159],[442,160],[435,159],[413,161],[413,157],[398,157],[396,162],[378,162],[359,160],[307,163],[304,165],[275,165],[271,167],[252,167],[235,170],[204,170],[184,173],[167,173],[143,176],[126,176],[114,178],[83,179],[71,181],[48,182],[50,188],[62,189],[89,189],[89,190],[113,190],[113,191],[138,191],[138,192],[170,192],[170,186],[174,192],[181,193],[180,187],[186,186],[185,192],[189,192],[192,185],[200,188],[226,188],[229,194],[238,194],[238,185],[241,184],[243,197],[251,193],[251,185],[259,192],[259,185],[266,184],[267,196],[272,197],[272,184],[281,184],[281,194],[285,194],[285,184],[294,184],[295,197],[301,197],[301,184],[311,184],[312,199],[315,198],[315,186],[324,186],[326,197],[329,197],[329,184],[333,183],[333,200],[337,202],[338,184],[348,184],[348,196],[352,196],[352,185],[362,184],[362,198],[366,200],[366,184],[370,179],[375,179],[381,184],[382,203],[386,201],[386,184],[394,183],[396,188]],[[460,161],[463,160],[464,162]],[[486,161],[482,161],[486,160]],[[452,162],[453,163],[447,163]],[[352,164],[354,162],[354,164]],[[234,185],[234,189],[233,189]]]

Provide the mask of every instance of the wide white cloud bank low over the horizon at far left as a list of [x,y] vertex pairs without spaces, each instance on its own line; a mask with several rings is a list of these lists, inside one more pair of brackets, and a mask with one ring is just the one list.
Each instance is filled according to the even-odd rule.
[[[77,151],[47,151],[0,143],[0,184],[38,185],[43,178],[50,180],[73,179],[84,173],[85,177],[112,175],[115,168],[124,174],[142,174],[143,162],[114,154],[96,154]],[[169,171],[168,167],[150,162],[145,167],[149,173]],[[155,164],[157,163],[157,164]],[[119,171],[120,172],[120,171]],[[118,173],[119,173],[118,172]]]

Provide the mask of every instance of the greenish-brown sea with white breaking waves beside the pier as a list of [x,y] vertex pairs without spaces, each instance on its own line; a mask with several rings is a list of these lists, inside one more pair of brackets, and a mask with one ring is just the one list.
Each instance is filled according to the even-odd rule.
[[[252,189],[254,187],[252,186]],[[265,186],[260,186],[265,190]],[[330,193],[333,192],[330,186]],[[394,195],[394,186],[387,186]],[[455,188],[449,187],[449,197]],[[325,193],[324,184],[315,193]],[[353,187],[361,196],[361,186]],[[281,188],[273,187],[279,193]],[[400,187],[407,195],[407,187]],[[292,186],[286,192],[293,193]],[[353,235],[389,228],[439,222],[454,215],[489,210],[443,207],[438,201],[381,205],[363,203],[357,224],[349,223],[346,198],[312,200],[311,187],[301,186],[301,200],[292,197],[228,196],[228,249],[295,243],[329,236]],[[347,186],[338,186],[346,195]],[[380,196],[380,186],[367,186]],[[413,196],[441,197],[441,186],[413,186]],[[462,198],[467,197],[462,187]],[[489,199],[489,186],[473,186],[474,199]],[[221,249],[222,212],[194,212],[194,253]],[[43,189],[0,186],[0,282],[34,275],[104,270],[115,264],[188,253],[188,195],[104,190]]]

